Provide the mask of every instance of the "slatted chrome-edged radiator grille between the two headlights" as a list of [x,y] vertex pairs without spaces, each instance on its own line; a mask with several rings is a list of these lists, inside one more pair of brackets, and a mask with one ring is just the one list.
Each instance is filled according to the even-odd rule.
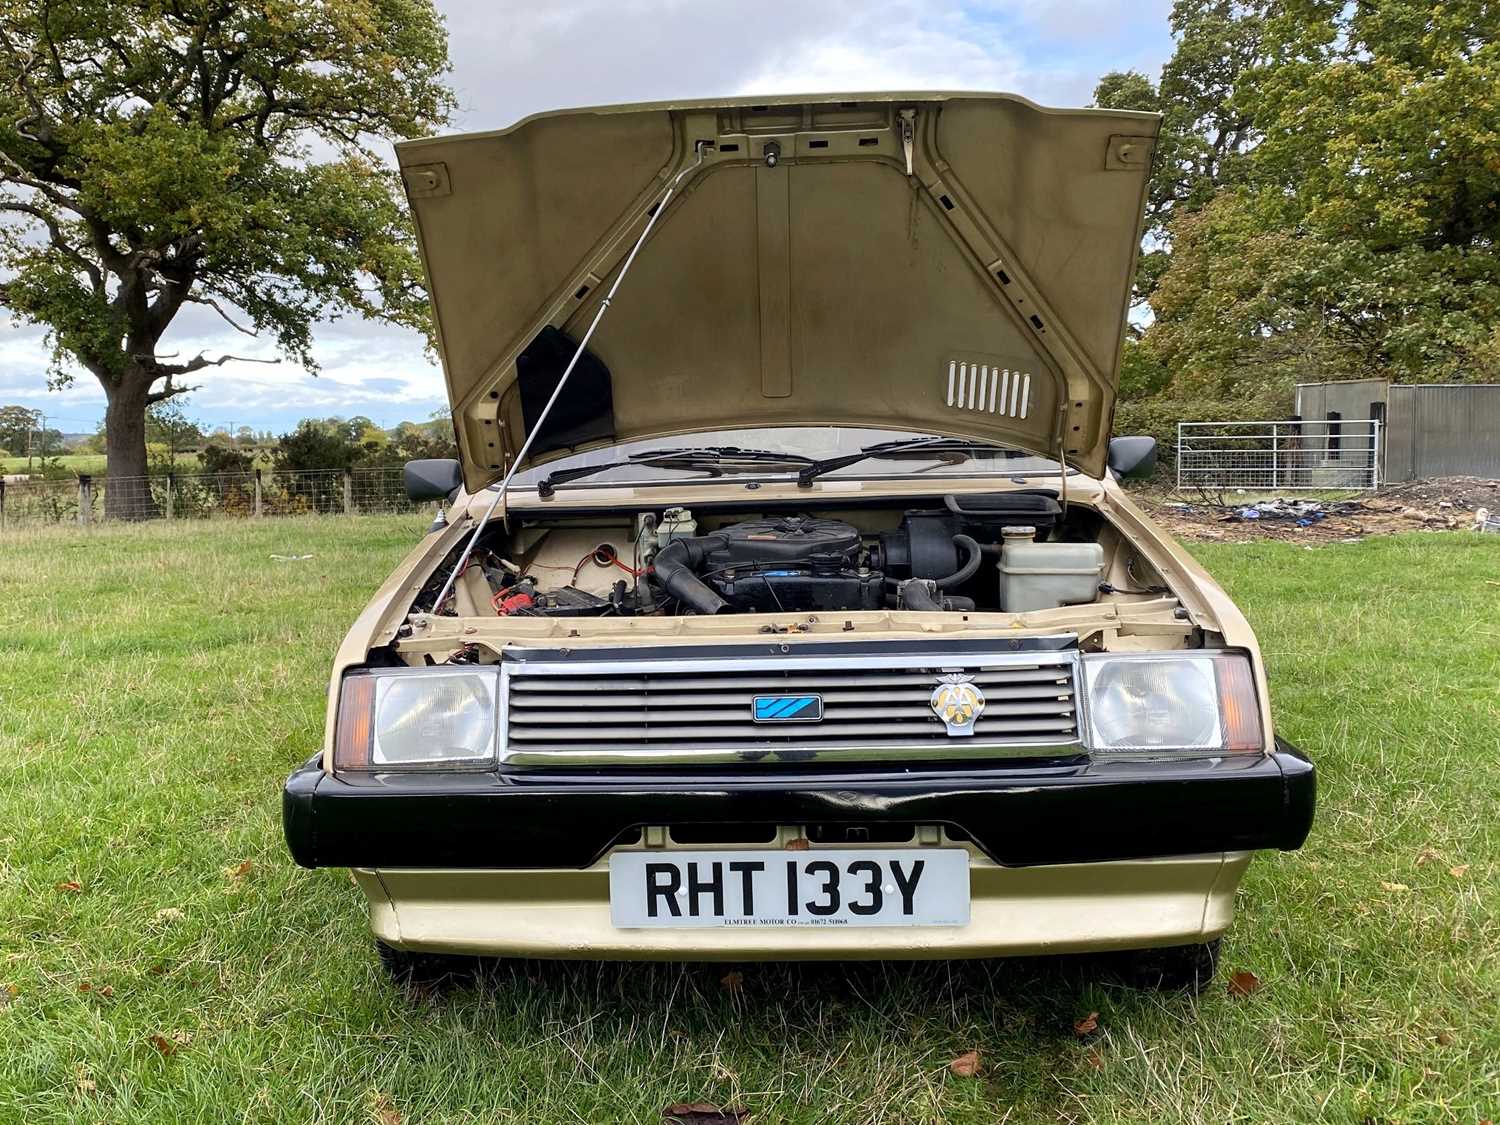
[[[501,760],[777,764],[1072,753],[1076,672],[1074,651],[506,662]],[[972,735],[951,735],[933,708],[944,676],[982,693]],[[810,696],[819,706],[804,708],[806,720],[758,722],[758,696]]]

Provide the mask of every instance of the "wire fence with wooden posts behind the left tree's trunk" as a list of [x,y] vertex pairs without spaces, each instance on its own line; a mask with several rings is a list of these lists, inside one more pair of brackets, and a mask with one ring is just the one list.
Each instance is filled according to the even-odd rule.
[[400,468],[0,480],[0,531],[46,524],[354,516],[428,508],[430,504],[406,498]]

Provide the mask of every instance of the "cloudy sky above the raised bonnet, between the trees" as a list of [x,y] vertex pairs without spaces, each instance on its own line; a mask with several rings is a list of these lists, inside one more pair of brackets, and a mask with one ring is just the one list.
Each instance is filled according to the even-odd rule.
[[1166,3],[554,0],[500,20],[488,0],[440,0],[468,129],[728,93],[1010,90],[1076,102],[1098,70],[1072,69],[1070,57],[1128,56],[1148,27],[1164,38]]

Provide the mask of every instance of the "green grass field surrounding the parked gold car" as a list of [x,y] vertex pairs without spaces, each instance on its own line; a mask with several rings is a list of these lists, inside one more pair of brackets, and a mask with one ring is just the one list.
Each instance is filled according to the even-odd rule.
[[[0,1122],[1500,1116],[1500,540],[1197,549],[1322,774],[1308,846],[1244,885],[1245,999],[1074,960],[746,966],[740,993],[714,966],[534,963],[412,996],[348,876],[286,858],[278,789],[418,528],[0,537]],[[984,1072],[951,1076],[969,1048]]]

